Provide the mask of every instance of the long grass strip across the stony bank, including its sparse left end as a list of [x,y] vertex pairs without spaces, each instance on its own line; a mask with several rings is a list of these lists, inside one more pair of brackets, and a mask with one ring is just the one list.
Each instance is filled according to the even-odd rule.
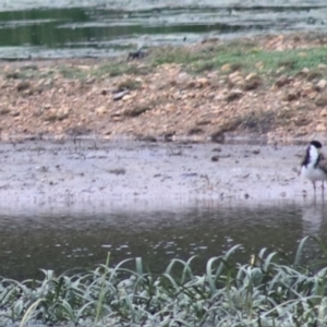
[[[59,73],[65,78],[85,80],[88,77],[108,78],[129,75],[146,75],[156,68],[177,63],[189,72],[201,74],[210,70],[221,70],[229,64],[226,72],[241,70],[245,73],[256,72],[261,75],[275,76],[295,74],[307,68],[313,77],[320,77],[326,73],[318,69],[320,63],[327,64],[327,47],[311,47],[307,49],[292,49],[283,51],[268,51],[261,49],[256,41],[233,40],[219,44],[194,47],[160,47],[149,50],[149,55],[141,60],[126,58],[108,59],[98,62],[89,69],[82,69],[73,64],[59,64],[47,70],[39,70],[37,65],[15,69],[5,72],[7,78],[39,78],[51,77]],[[86,64],[87,65],[87,64]]]

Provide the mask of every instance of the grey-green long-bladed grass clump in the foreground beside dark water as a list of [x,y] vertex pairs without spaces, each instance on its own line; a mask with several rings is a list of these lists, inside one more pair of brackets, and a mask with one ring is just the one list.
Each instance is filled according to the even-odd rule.
[[308,239],[327,254],[305,238],[287,265],[267,249],[256,263],[234,265],[237,245],[210,258],[203,276],[192,272],[192,258],[173,259],[154,276],[141,258],[130,270],[126,261],[110,267],[108,255],[105,265],[75,276],[48,270],[44,280],[1,278],[0,326],[326,326],[327,267],[300,263]]

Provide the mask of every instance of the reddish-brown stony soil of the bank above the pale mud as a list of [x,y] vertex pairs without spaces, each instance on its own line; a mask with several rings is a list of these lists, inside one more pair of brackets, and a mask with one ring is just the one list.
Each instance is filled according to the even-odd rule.
[[[219,43],[206,40],[186,49],[198,51]],[[282,51],[318,47],[326,39],[277,35],[255,43],[261,49]],[[144,60],[1,62],[1,140],[93,134],[219,142],[226,135],[255,134],[286,142],[322,137],[327,130],[327,82],[315,71],[289,75],[281,68],[265,81],[229,64],[193,74],[177,63],[149,70]],[[130,70],[98,77],[93,72],[104,64],[126,64]],[[320,63],[317,70],[326,68]]]

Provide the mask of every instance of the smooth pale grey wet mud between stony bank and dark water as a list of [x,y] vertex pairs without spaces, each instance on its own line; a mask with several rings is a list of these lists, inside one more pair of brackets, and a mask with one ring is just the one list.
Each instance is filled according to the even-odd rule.
[[33,141],[0,144],[0,209],[302,201],[303,146]]

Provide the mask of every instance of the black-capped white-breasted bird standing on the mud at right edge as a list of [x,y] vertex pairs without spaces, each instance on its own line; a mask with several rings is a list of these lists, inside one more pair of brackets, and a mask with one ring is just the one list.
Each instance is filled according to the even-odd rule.
[[322,147],[319,141],[310,142],[301,162],[300,174],[312,182],[314,192],[316,192],[317,181],[322,181],[322,190],[324,191],[324,181],[327,180],[327,160],[322,153]]

